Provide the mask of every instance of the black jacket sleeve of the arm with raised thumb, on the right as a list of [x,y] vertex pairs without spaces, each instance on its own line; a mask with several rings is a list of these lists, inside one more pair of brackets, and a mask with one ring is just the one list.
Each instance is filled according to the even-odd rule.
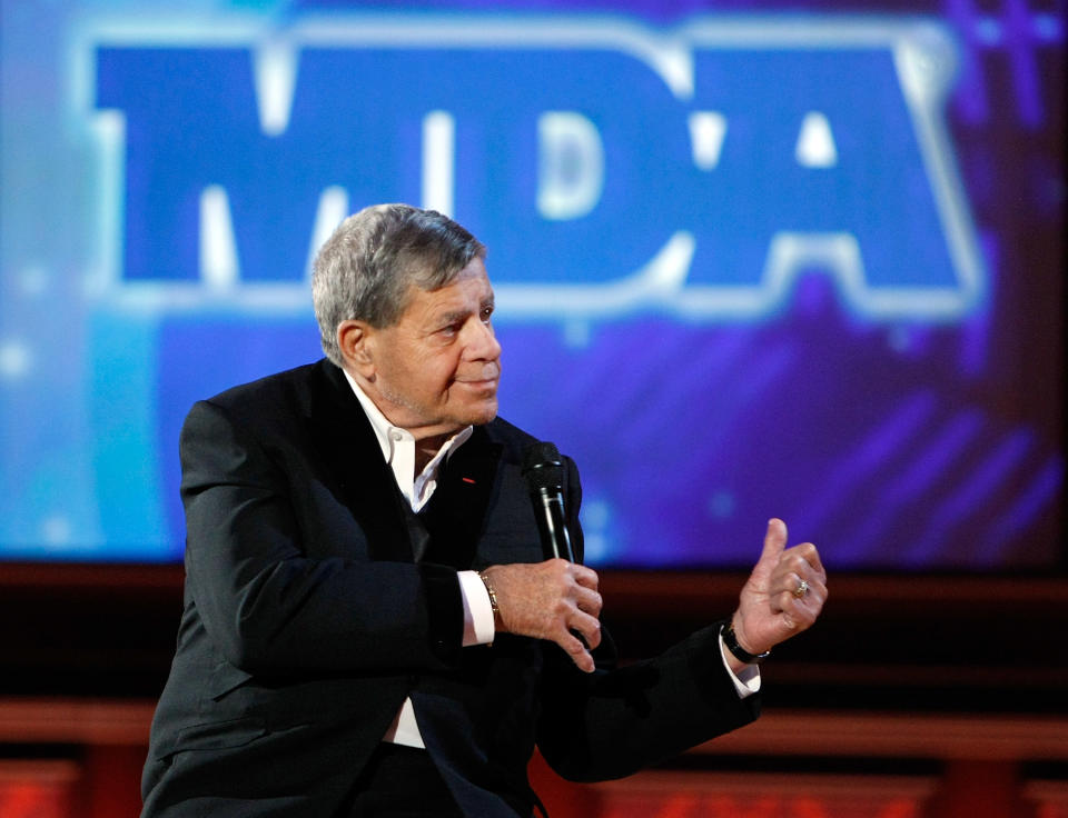
[[[570,527],[581,559],[581,490],[577,471],[568,466]],[[583,674],[563,650],[546,644],[537,722],[545,760],[570,780],[622,778],[756,719],[760,696],[740,698],[723,665],[721,625],[623,668],[605,629],[593,674]]]

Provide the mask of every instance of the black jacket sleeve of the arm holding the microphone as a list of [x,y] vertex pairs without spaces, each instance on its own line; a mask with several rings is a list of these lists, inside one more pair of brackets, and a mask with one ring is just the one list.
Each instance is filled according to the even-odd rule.
[[307,486],[215,403],[190,411],[180,456],[186,582],[230,664],[281,674],[448,666],[463,635],[455,569],[353,559],[344,547],[309,557],[291,499]]

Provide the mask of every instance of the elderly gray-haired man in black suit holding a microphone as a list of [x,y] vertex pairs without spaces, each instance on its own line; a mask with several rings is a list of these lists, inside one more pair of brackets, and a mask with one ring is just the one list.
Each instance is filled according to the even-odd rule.
[[625,776],[758,715],[759,661],[827,596],[772,520],[731,619],[613,669],[597,576],[543,556],[496,417],[485,249],[434,211],[347,219],[315,265],[327,359],[197,403],[185,611],[145,816],[531,816],[535,745]]

